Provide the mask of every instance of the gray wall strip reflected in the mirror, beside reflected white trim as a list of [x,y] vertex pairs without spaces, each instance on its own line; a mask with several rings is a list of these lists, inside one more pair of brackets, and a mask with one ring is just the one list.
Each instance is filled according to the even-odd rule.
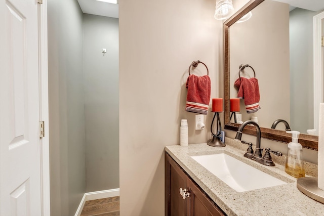
[[290,12],[290,122],[301,133],[314,126],[313,16],[300,8]]

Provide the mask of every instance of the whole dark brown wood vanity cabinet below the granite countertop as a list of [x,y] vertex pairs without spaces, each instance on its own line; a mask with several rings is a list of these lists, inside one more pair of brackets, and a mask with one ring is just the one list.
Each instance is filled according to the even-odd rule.
[[[188,195],[183,199],[180,188]],[[165,152],[165,215],[215,216],[226,215],[208,195]]]

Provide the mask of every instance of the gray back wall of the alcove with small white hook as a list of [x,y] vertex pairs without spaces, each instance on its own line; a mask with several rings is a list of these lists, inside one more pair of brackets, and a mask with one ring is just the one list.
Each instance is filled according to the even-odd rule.
[[[119,188],[118,19],[84,14],[87,192]],[[102,48],[107,49],[103,55]]]

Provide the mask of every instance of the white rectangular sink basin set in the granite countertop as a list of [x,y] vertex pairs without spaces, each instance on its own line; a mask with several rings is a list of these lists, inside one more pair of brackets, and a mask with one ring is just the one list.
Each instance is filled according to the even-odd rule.
[[237,192],[287,184],[224,153],[191,158]]

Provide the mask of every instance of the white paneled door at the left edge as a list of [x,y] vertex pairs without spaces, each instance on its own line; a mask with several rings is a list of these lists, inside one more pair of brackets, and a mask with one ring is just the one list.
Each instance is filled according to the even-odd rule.
[[41,215],[37,0],[0,0],[0,215]]

